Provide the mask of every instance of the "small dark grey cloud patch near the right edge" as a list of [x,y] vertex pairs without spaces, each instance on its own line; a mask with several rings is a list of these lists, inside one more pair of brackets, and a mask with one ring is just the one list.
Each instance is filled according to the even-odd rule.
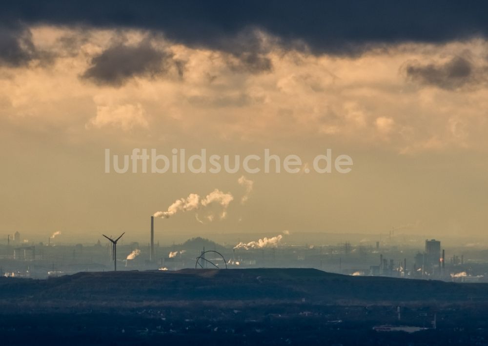
[[468,83],[478,83],[482,72],[475,73],[475,66],[465,58],[454,57],[444,64],[421,64],[408,62],[407,77],[421,84],[435,85],[443,89],[454,89]]

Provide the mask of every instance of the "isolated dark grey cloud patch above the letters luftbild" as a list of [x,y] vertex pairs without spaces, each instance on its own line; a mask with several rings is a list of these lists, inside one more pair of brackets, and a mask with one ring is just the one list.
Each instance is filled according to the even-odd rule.
[[174,61],[171,53],[155,49],[144,40],[135,46],[119,43],[107,48],[92,59],[81,77],[99,85],[121,86],[132,77],[155,77],[172,67],[183,78],[182,61]]

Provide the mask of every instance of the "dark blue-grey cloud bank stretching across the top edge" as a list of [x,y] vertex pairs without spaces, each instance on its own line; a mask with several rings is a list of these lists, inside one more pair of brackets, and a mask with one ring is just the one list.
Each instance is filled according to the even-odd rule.
[[[232,50],[248,27],[303,41],[312,52],[354,54],[371,44],[440,42],[488,34],[487,1],[4,1],[0,20],[137,27],[188,45]],[[250,55],[245,60],[256,60]],[[263,61],[259,61],[258,65]],[[265,64],[264,64],[265,66]]]

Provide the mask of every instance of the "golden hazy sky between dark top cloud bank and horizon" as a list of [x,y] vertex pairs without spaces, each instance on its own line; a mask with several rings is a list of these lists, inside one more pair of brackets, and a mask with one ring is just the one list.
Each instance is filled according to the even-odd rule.
[[[231,193],[223,220],[158,220],[162,232],[484,235],[488,43],[389,43],[332,55],[257,29],[251,53],[136,29],[32,25],[32,54],[0,64],[0,232],[146,235],[190,193]],[[35,54],[34,54],[35,52]],[[331,148],[348,174],[104,173],[104,149],[297,154]]]

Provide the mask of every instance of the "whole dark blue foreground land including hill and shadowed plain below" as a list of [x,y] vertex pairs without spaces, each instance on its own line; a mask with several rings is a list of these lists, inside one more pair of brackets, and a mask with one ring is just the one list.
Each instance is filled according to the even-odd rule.
[[315,269],[1,278],[0,304],[1,345],[488,345],[488,285]]

